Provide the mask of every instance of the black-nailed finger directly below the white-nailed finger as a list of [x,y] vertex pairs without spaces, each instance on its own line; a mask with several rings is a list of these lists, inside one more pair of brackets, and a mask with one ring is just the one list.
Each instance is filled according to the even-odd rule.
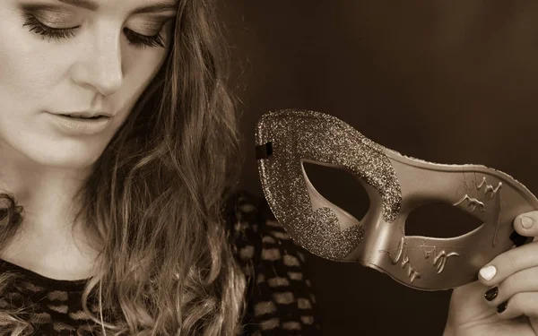
[[499,306],[508,298],[522,292],[538,292],[538,267],[516,271],[498,286],[485,291],[484,298],[490,306]]

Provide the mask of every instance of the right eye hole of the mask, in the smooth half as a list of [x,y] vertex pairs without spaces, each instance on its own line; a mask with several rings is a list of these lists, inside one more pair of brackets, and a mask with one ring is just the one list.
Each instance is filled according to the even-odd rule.
[[405,220],[405,236],[459,237],[479,228],[482,220],[454,206],[432,202],[413,209]]

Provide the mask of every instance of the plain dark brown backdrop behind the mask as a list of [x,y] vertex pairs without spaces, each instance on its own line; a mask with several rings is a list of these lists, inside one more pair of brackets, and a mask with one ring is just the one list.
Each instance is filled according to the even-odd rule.
[[[243,113],[243,189],[263,195],[258,117],[303,108],[412,157],[497,168],[538,193],[538,2],[227,0],[221,14]],[[334,170],[311,181],[354,214],[359,184]],[[415,233],[450,236],[440,232],[450,217],[422,218]],[[308,265],[324,335],[441,335],[449,291],[312,254]]]

